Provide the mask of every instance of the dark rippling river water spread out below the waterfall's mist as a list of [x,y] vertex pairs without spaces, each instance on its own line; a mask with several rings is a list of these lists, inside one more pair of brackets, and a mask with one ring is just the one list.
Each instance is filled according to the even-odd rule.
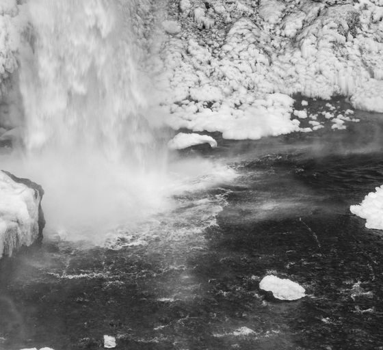
[[[214,135],[181,157],[222,159],[235,180],[103,247],[48,239],[3,260],[0,349],[98,349],[104,334],[116,349],[383,349],[383,232],[349,212],[383,184],[383,116],[356,116],[345,131]],[[267,273],[307,296],[270,299]]]

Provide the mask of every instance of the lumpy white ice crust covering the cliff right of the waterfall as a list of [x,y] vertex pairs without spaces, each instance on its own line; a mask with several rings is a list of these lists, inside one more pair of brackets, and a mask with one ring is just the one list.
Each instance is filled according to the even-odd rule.
[[183,0],[169,17],[182,30],[163,44],[159,86],[174,129],[229,139],[320,129],[281,103],[295,93],[383,111],[383,3]]

